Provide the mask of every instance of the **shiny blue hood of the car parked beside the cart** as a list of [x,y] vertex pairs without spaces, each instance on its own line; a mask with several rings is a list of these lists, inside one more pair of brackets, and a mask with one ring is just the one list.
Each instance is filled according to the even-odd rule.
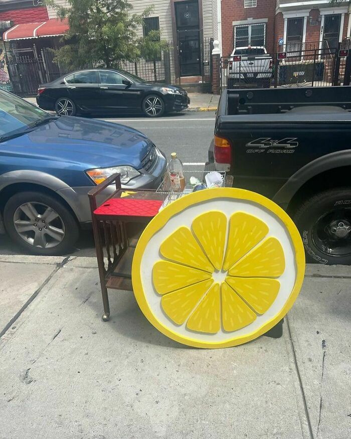
[[61,116],[1,143],[0,149],[29,160],[65,162],[85,171],[118,165],[140,169],[152,145],[140,131],[124,125]]

